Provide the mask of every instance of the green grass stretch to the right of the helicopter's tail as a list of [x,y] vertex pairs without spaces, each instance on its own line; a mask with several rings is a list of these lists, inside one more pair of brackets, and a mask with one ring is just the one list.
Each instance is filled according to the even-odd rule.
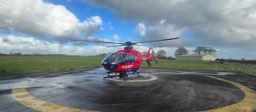
[[158,65],[155,63],[149,67],[146,62],[141,64],[142,67],[167,69],[167,70],[185,70],[185,71],[227,71],[239,72],[256,77],[256,66],[244,66],[232,63],[213,63],[212,61],[174,61],[160,59]]

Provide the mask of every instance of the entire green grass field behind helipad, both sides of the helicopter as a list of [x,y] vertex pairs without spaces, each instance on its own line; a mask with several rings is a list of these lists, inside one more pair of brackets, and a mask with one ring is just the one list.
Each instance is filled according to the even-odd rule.
[[[70,71],[80,68],[99,67],[103,57],[90,56],[0,56],[1,74],[22,74],[34,72]],[[160,59],[159,64],[148,67],[146,62],[142,67],[185,70],[185,71],[230,71],[242,72],[256,76],[255,66],[240,64],[219,64],[209,61],[173,61]]]

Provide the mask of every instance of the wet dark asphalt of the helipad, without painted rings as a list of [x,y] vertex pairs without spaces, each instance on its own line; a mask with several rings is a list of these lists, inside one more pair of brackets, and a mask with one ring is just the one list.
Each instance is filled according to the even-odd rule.
[[[243,90],[223,80],[245,85],[256,91],[256,79],[236,73],[166,71],[141,69],[141,74],[157,80],[120,82],[106,80],[105,70],[48,75],[23,75],[0,79],[0,111],[37,111],[13,98],[13,89],[30,81],[30,95],[52,104],[95,111],[202,111],[241,102]],[[255,111],[255,110],[254,110]]]

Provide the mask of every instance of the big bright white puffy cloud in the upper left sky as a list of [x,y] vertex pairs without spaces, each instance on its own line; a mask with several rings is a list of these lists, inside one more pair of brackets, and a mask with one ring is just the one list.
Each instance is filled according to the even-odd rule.
[[64,40],[92,36],[102,30],[100,17],[93,16],[80,22],[66,7],[43,0],[0,2],[0,27],[9,31]]

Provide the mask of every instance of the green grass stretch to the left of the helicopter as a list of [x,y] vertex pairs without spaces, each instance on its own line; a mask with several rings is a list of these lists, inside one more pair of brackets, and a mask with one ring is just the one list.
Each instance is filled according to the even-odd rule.
[[0,56],[1,74],[70,71],[98,67],[102,57],[81,56]]

